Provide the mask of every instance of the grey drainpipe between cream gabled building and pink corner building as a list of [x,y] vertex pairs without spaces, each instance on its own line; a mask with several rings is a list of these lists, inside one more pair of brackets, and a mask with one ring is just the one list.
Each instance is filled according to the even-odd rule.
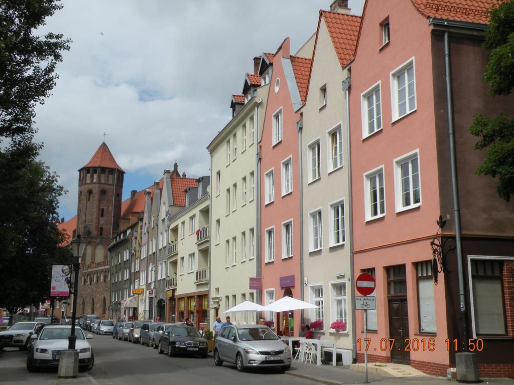
[[[350,284],[352,285],[352,331],[355,337],[355,290],[353,282],[355,281],[354,267],[354,248],[353,248],[353,200],[352,200],[352,153],[350,146],[350,95],[349,89],[352,78],[348,76],[343,83],[344,98],[346,99],[346,168],[348,176],[348,247],[350,248]],[[357,346],[356,339],[352,341],[352,358],[354,363],[357,362]]]

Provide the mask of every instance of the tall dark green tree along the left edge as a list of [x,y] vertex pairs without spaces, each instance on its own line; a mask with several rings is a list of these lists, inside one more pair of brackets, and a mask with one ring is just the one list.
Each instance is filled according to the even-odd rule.
[[10,313],[48,297],[51,265],[70,261],[56,224],[64,190],[33,140],[35,107],[70,43],[38,30],[61,8],[57,0],[0,0],[0,307]]

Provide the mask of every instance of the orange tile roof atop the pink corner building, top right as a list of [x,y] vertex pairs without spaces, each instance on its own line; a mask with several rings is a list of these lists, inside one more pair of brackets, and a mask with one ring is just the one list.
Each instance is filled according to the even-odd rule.
[[489,11],[502,0],[412,0],[417,10],[427,17],[468,23],[487,24]]

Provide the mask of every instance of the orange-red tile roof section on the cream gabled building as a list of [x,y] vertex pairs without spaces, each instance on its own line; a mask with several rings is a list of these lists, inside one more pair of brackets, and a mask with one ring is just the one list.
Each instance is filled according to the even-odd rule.
[[320,11],[320,13],[325,19],[332,44],[334,44],[337,57],[339,57],[339,63],[341,67],[344,67],[354,57],[361,18],[355,15],[329,11]]

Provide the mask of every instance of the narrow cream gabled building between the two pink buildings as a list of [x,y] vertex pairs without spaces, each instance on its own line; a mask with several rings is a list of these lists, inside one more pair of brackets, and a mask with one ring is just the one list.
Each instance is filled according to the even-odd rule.
[[[351,234],[348,207],[346,100],[341,89],[348,73],[360,18],[346,8],[321,12],[311,67],[303,128],[304,300],[319,306],[304,312],[305,323],[321,320],[316,335],[336,339],[346,360],[353,345]],[[340,36],[344,36],[341,40]],[[350,54],[348,54],[350,52]],[[346,331],[331,324],[341,321]]]

